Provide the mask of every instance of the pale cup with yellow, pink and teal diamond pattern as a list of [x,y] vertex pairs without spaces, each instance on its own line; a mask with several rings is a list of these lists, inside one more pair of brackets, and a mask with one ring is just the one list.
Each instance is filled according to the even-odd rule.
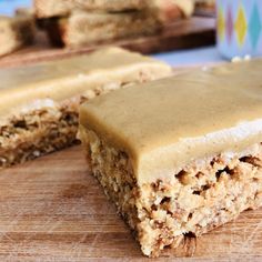
[[216,14],[223,57],[262,56],[262,0],[216,0]]

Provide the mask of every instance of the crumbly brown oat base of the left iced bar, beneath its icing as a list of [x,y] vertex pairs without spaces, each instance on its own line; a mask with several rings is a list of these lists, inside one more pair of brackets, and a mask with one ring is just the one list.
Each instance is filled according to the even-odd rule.
[[78,143],[77,105],[43,107],[10,118],[0,127],[0,168]]

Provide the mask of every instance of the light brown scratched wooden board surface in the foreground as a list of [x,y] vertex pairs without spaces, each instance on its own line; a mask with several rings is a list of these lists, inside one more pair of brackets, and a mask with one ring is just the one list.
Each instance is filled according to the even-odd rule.
[[[0,261],[150,261],[90,174],[80,145],[1,170],[0,189]],[[262,210],[187,239],[158,261],[185,256],[262,261]]]

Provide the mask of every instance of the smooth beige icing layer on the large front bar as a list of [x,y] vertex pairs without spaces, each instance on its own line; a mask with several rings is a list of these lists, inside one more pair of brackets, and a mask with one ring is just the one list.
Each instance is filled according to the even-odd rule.
[[80,123],[130,154],[139,183],[171,178],[262,142],[261,69],[253,60],[118,90],[82,105]]

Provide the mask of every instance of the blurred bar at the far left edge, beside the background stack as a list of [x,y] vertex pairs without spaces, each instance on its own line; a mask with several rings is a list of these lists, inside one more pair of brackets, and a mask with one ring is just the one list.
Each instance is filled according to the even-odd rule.
[[33,41],[34,22],[31,16],[0,16],[0,57]]

